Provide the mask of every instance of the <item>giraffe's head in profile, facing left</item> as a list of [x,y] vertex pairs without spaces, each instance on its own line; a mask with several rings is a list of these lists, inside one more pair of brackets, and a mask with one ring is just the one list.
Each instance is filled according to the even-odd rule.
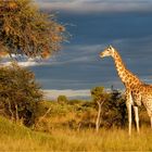
[[104,56],[114,56],[114,48],[112,46],[109,46],[107,48],[104,49],[103,52],[100,53],[100,58]]

